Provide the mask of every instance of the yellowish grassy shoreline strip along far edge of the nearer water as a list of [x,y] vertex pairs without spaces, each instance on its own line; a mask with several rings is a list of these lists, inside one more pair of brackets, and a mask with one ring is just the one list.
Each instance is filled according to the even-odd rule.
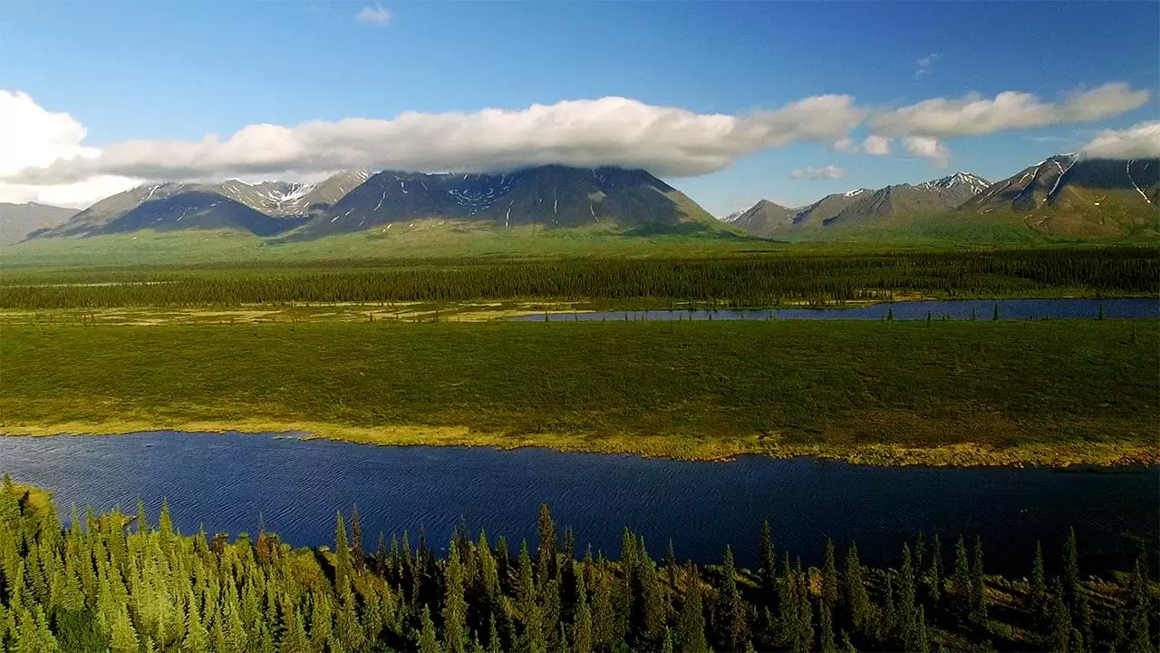
[[466,426],[365,428],[329,423],[290,424],[254,419],[230,424],[222,422],[70,422],[50,425],[0,425],[0,437],[117,436],[151,431],[300,436],[303,440],[325,439],[376,446],[462,446],[491,447],[500,451],[536,447],[560,453],[629,454],[641,458],[668,458],[701,462],[725,462],[740,455],[763,455],[773,459],[815,458],[878,467],[1049,467],[1064,469],[1073,466],[1116,468],[1160,465],[1160,447],[1150,446],[1150,443],[1145,442],[1128,440],[1028,444],[1008,447],[955,443],[916,447],[898,444],[840,446],[785,443],[782,438],[756,435],[723,440],[704,440],[681,436],[645,436],[619,439],[588,438],[568,433],[481,432],[472,431]]

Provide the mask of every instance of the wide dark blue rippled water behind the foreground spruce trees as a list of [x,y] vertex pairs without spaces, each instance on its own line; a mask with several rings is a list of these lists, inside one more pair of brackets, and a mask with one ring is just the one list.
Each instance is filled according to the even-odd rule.
[[[1141,543],[1155,545],[1160,468],[870,467],[814,459],[742,457],[686,462],[542,449],[385,447],[270,435],[147,432],[107,437],[0,437],[0,472],[52,490],[70,505],[155,518],[168,496],[182,532],[268,530],[296,546],[332,544],[334,514],[358,505],[363,537],[411,531],[444,547],[461,516],[477,532],[507,537],[513,554],[535,547],[536,514],[552,507],[582,546],[616,555],[621,531],[641,533],[660,557],[720,559],[733,545],[755,564],[769,519],[778,547],[819,564],[827,536],[840,551],[856,538],[863,560],[897,564],[901,540],[940,532],[948,562],[959,533],[983,536],[988,568],[1029,573],[1035,540],[1049,566],[1068,526],[1085,573],[1128,569]],[[84,514],[84,512],[82,512]],[[1153,553],[1154,554],[1154,553]],[[1154,558],[1153,558],[1154,559]]]

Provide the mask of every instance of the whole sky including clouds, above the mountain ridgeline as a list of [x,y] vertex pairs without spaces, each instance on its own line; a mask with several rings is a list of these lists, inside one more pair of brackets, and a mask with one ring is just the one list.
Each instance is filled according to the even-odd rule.
[[639,166],[716,215],[1160,156],[1160,2],[5,0],[0,201]]

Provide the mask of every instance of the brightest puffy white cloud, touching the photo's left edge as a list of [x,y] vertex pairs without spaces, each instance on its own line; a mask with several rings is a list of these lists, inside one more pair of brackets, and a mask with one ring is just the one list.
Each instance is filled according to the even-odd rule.
[[58,160],[92,160],[100,155],[86,148],[86,130],[66,113],[49,112],[27,93],[0,89],[0,202],[43,202],[86,207],[95,199],[137,185],[135,179],[90,175],[64,184],[6,184],[2,179],[29,166]]

